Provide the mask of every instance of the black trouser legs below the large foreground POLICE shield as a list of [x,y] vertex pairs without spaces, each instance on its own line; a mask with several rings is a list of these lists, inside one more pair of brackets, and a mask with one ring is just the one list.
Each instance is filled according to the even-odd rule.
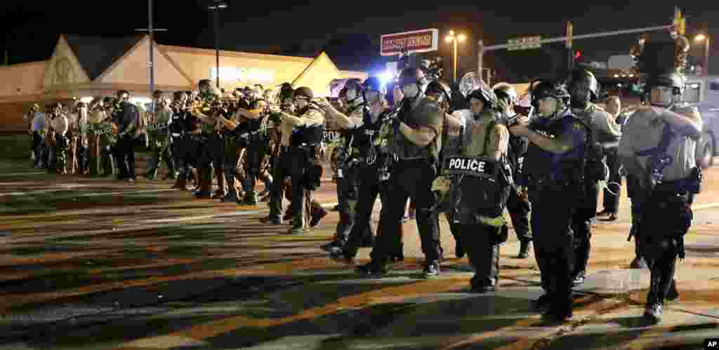
[[459,224],[462,247],[475,269],[472,287],[495,287],[499,282],[498,228],[483,224]]

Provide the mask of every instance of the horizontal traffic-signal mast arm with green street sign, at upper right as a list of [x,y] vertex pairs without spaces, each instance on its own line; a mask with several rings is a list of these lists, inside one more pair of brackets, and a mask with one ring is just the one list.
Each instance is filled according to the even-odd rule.
[[[678,16],[677,16],[678,11]],[[613,30],[609,32],[597,32],[592,34],[582,34],[582,35],[574,35],[574,33],[567,33],[567,36],[564,37],[552,37],[549,39],[541,39],[541,38],[530,38],[531,41],[529,45],[535,45],[528,48],[536,48],[541,47],[541,44],[549,44],[551,42],[567,42],[569,40],[578,40],[578,39],[590,39],[590,38],[596,38],[596,37],[612,37],[615,35],[622,35],[622,34],[633,34],[633,33],[644,33],[644,32],[656,32],[660,30],[666,30],[666,29],[672,29],[677,28],[677,32],[679,34],[684,34],[683,31],[686,26],[686,22],[684,21],[684,17],[682,17],[681,11],[677,8],[677,11],[675,11],[675,18],[673,24],[667,24],[663,26],[656,26],[656,27],[646,27],[646,28],[636,28],[636,29],[624,29],[624,30]],[[567,29],[569,29],[569,26],[567,26]],[[572,34],[569,36],[569,34]],[[540,40],[534,40],[534,39],[540,39]],[[511,41],[511,40],[510,40]],[[567,44],[571,45],[571,44]],[[482,40],[479,40],[477,42],[477,72],[482,74],[482,68],[484,68],[483,63],[483,57],[485,55],[485,52],[487,51],[494,51],[494,50],[503,50],[503,49],[510,49],[510,50],[523,50],[523,49],[517,49],[518,45],[515,43],[508,43],[508,44],[501,44],[501,45],[490,45],[485,46],[484,42]],[[573,59],[573,58],[572,58]]]

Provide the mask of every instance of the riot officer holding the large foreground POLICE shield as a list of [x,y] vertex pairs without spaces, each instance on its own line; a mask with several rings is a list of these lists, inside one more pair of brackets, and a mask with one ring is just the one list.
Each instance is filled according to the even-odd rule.
[[433,189],[441,193],[440,210],[452,212],[462,232],[462,247],[475,269],[472,292],[486,293],[498,286],[499,246],[506,241],[503,211],[513,185],[506,159],[509,132],[502,115],[492,108],[497,98],[486,83],[468,97],[470,118],[445,119],[447,128],[461,129],[462,134],[459,147],[445,152],[442,175]]

